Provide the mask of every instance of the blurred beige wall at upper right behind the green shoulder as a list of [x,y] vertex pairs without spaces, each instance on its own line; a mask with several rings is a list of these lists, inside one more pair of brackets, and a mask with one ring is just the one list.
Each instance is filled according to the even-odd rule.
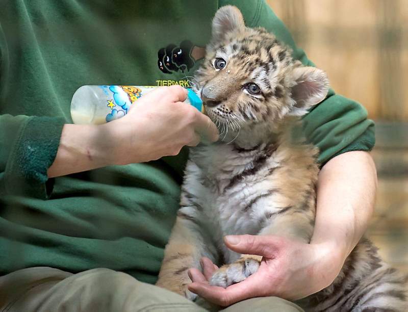
[[268,0],[336,92],[408,121],[408,0]]

